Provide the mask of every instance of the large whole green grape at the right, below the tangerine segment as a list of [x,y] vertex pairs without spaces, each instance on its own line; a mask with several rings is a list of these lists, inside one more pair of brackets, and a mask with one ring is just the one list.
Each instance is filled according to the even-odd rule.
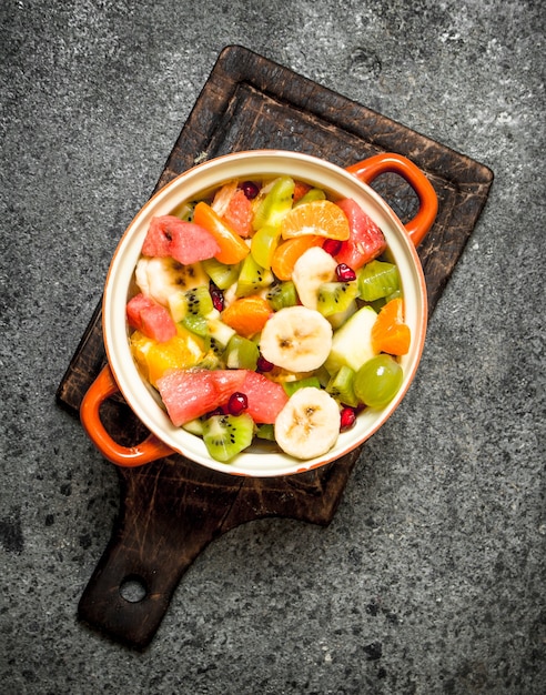
[[401,365],[387,354],[365,362],[356,372],[353,389],[358,401],[370,407],[384,407],[398,393],[404,379]]

